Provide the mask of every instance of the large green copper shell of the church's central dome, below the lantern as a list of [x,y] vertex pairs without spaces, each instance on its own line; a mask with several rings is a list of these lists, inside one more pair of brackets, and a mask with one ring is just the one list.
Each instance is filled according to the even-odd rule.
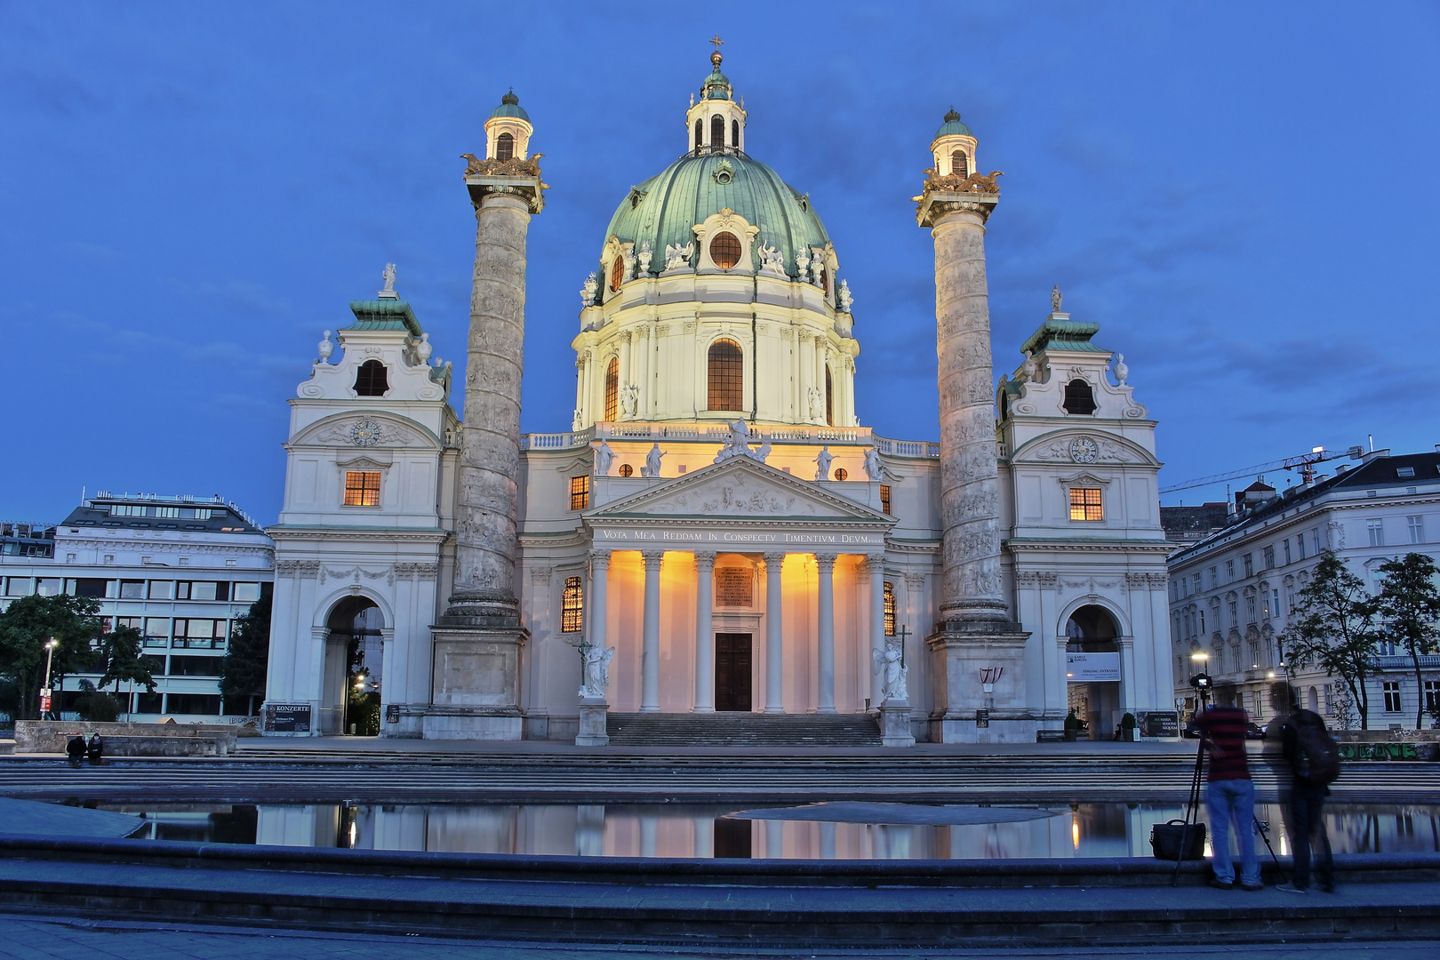
[[726,207],[760,227],[752,245],[752,268],[760,245],[766,245],[779,248],[785,272],[796,276],[795,252],[829,242],[808,196],[759,160],[736,153],[687,155],[670,164],[631,190],[611,217],[605,237],[634,242],[636,250],[648,240],[655,253],[651,269],[658,273],[664,269],[665,246],[691,243],[694,226]]

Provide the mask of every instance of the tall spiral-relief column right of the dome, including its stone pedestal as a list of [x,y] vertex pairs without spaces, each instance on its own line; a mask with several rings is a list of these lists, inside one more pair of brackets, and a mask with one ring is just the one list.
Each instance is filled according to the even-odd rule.
[[935,239],[940,387],[940,623],[927,640],[937,692],[932,738],[1034,741],[1021,678],[1028,633],[1011,619],[1001,571],[985,281],[985,225],[999,203],[999,174],[971,173],[975,145],[960,115],[946,114],[916,216]]

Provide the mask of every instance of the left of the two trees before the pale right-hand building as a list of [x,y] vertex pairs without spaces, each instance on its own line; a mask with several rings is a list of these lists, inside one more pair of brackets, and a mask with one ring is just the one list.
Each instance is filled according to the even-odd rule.
[[1359,711],[1361,730],[1369,728],[1365,681],[1375,671],[1380,600],[1333,551],[1320,553],[1310,583],[1300,590],[1295,617],[1286,629],[1286,649],[1296,665],[1318,664],[1339,675]]

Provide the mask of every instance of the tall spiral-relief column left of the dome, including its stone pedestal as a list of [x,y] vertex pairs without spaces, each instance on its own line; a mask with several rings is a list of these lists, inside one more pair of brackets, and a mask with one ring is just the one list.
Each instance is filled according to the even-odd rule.
[[[465,423],[456,471],[455,583],[433,628],[435,675],[425,737],[520,740],[516,597],[520,377],[524,370],[526,235],[544,206],[530,121],[514,94],[485,122],[487,160],[467,154],[475,209]],[[497,157],[498,150],[498,157]],[[508,154],[508,155],[507,155]]]

